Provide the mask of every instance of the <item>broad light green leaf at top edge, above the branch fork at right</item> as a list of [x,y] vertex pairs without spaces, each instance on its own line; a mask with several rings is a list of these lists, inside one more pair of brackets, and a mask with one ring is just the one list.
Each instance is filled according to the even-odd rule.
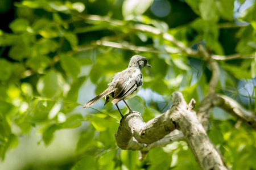
[[217,22],[218,21],[218,8],[215,0],[202,0],[199,6],[201,17],[204,20]]

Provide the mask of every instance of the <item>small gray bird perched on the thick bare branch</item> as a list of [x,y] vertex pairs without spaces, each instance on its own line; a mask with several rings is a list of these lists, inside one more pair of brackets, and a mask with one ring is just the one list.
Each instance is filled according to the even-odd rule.
[[146,66],[151,67],[147,63],[146,57],[139,55],[131,57],[128,68],[119,73],[116,73],[113,76],[112,82],[108,84],[109,87],[100,95],[88,101],[88,103],[86,103],[83,108],[88,108],[98,100],[105,97],[106,102],[104,106],[109,103],[109,101],[111,101],[111,103],[117,106],[121,117],[123,117],[123,114],[117,105],[117,103],[121,100],[123,100],[123,102],[127,105],[129,111],[133,112],[125,100],[131,99],[138,94],[143,83],[141,70]]

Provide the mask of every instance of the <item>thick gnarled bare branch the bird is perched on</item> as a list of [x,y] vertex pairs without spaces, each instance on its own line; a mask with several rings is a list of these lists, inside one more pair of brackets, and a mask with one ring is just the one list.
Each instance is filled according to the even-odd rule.
[[[117,134],[115,134],[117,145],[122,149],[141,150],[133,144],[145,147],[156,146],[156,142],[166,141],[166,139],[171,143],[170,138],[164,138],[164,136],[178,129],[184,134],[185,141],[202,169],[227,169],[220,153],[210,142],[193,111],[195,100],[192,99],[188,105],[179,92],[172,94],[172,100],[174,105],[166,113],[146,123],[143,122],[138,112],[127,114],[121,120]],[[141,151],[141,160],[146,158],[147,151]]]

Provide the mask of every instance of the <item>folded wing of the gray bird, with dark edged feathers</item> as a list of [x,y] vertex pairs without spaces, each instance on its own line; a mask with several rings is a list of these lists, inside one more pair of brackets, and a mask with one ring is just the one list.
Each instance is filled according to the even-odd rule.
[[125,99],[127,96],[131,95],[139,86],[143,83],[141,73],[133,73],[128,78],[119,79],[115,86],[115,91],[113,92],[112,97],[114,100],[113,104],[118,103],[118,101]]

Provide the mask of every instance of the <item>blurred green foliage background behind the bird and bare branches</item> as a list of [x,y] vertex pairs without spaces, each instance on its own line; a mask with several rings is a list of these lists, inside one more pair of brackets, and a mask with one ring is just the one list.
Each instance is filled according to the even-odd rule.
[[[197,106],[211,68],[163,39],[199,43],[220,60],[216,91],[255,111],[254,0],[0,1],[0,169],[200,169],[185,142],[151,150],[120,150],[119,112],[104,100],[82,105],[108,87],[139,54],[143,88],[128,100],[144,121],[170,108],[181,91]],[[119,104],[123,113],[127,108]],[[232,169],[256,169],[256,134],[220,108],[208,135]]]

